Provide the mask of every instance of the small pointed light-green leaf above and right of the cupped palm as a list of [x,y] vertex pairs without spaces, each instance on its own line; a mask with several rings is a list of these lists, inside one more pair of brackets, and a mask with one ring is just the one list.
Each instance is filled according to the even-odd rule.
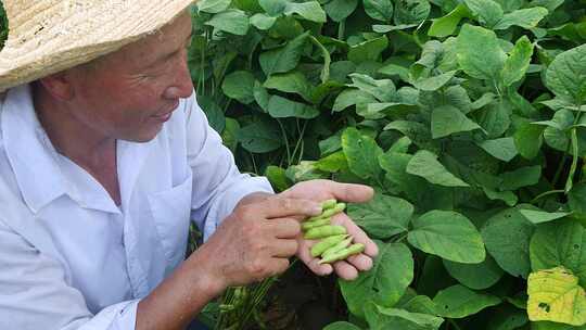
[[407,173],[444,187],[470,187],[470,185],[449,173],[437,161],[437,156],[426,150],[420,150],[413,155],[407,165]]

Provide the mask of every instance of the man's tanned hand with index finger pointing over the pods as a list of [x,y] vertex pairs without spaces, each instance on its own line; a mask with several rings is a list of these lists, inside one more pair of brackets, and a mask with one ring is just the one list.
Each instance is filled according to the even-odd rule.
[[298,249],[298,218],[320,213],[320,203],[278,195],[239,204],[195,253],[208,255],[208,265],[194,267],[219,291],[281,274]]

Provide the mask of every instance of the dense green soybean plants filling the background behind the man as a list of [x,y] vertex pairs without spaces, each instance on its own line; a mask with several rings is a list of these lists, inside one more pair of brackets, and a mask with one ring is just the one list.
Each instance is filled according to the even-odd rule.
[[200,0],[192,13],[198,101],[241,170],[277,191],[373,187],[346,212],[380,248],[355,281],[295,263],[230,289],[204,322],[586,329],[585,0]]

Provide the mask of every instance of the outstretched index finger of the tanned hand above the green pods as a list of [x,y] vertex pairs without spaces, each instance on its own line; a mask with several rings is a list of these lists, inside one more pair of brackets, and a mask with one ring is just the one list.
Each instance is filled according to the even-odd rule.
[[255,208],[258,211],[258,216],[264,218],[282,218],[290,216],[316,216],[321,214],[321,204],[304,200],[304,199],[288,199],[275,196],[263,202],[263,207]]

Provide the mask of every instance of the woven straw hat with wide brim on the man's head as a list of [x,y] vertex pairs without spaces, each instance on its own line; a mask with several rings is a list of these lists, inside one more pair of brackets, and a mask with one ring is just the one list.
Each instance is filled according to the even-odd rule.
[[3,0],[0,92],[90,62],[170,23],[193,0]]

